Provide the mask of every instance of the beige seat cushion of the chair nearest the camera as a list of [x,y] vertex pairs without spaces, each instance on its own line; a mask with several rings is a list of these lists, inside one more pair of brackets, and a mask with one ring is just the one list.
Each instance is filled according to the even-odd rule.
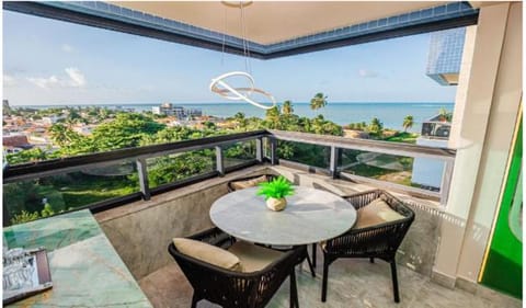
[[241,271],[244,273],[261,271],[283,255],[281,251],[244,241],[235,242],[228,251],[239,258]]

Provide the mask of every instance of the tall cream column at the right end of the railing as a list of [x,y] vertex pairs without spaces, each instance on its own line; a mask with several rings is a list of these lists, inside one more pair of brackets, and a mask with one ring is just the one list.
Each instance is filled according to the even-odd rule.
[[[468,28],[466,34],[450,142],[457,149],[457,157],[446,207],[455,219],[443,223],[433,269],[435,274],[445,278],[442,281],[453,284],[462,250],[465,221],[468,220],[479,176],[508,9],[510,3],[481,8],[478,25]],[[468,65],[469,57],[471,66]]]

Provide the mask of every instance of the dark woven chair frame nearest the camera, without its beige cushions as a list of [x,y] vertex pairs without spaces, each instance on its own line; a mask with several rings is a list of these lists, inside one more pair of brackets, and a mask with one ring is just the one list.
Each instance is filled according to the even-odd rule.
[[[236,242],[233,237],[218,228],[188,238],[224,249]],[[288,276],[290,276],[290,307],[299,307],[295,265],[305,259],[306,247],[298,247],[284,252],[283,256],[265,269],[251,273],[229,271],[203,262],[181,253],[173,243],[170,243],[168,250],[194,288],[193,308],[202,299],[207,299],[226,308],[265,307]]]

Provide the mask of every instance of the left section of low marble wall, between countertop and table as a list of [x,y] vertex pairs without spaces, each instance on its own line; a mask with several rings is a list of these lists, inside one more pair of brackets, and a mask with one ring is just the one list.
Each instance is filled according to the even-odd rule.
[[95,218],[138,281],[173,262],[168,253],[172,238],[213,226],[208,212],[214,201],[228,193],[228,181],[264,171],[264,167],[247,168],[102,212]]

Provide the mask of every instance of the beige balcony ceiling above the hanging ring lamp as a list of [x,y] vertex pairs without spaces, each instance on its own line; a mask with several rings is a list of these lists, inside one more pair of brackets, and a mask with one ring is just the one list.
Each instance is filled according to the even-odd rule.
[[[231,1],[236,2],[236,1]],[[112,4],[241,38],[241,10],[224,2],[112,1]],[[252,1],[245,38],[262,45],[446,4],[444,1]]]

